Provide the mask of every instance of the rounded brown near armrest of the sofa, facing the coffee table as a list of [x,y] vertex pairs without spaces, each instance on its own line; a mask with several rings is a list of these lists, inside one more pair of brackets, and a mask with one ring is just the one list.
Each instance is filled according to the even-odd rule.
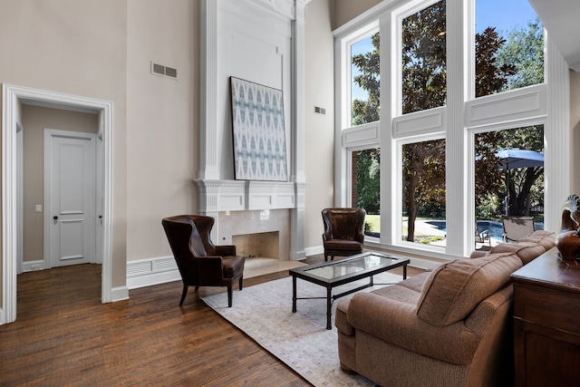
[[481,339],[463,321],[434,326],[417,316],[415,305],[372,293],[353,295],[347,320],[355,331],[371,334],[413,353],[456,364],[471,363]]

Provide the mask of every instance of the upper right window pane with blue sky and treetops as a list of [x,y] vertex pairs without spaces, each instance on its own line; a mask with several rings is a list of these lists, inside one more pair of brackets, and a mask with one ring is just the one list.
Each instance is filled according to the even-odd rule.
[[544,27],[527,0],[476,0],[475,40],[476,97],[544,82]]

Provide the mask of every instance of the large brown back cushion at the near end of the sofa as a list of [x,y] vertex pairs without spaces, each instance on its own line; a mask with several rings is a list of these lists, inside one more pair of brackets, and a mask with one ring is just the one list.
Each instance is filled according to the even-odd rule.
[[521,266],[522,261],[512,254],[456,259],[437,266],[421,289],[417,315],[436,326],[456,323],[506,285]]

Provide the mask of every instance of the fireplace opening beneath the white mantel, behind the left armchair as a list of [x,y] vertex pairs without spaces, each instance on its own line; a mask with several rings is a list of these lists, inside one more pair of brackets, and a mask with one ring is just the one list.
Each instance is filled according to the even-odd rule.
[[280,258],[280,239],[278,231],[242,234],[232,236],[238,256],[252,258]]

